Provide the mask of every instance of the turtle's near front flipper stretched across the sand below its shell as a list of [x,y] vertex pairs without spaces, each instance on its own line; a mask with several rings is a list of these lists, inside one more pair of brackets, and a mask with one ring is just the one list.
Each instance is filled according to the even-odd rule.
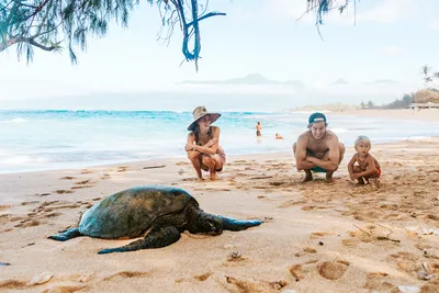
[[144,239],[133,241],[122,247],[102,249],[98,255],[160,248],[177,243],[178,239],[180,239],[180,232],[178,228],[175,226],[167,226],[150,230]]

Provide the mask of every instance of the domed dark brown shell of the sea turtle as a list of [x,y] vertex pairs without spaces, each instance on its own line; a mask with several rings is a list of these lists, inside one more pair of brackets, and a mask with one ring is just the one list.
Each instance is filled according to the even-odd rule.
[[[154,227],[157,218],[173,214],[177,218],[188,205],[199,207],[196,200],[182,189],[132,188],[114,193],[86,211],[79,222],[79,232],[106,239],[138,237]],[[172,219],[172,216],[167,218]]]

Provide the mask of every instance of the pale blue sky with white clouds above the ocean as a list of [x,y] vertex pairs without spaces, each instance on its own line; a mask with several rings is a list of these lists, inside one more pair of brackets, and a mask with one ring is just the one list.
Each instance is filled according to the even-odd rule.
[[[356,13],[350,7],[348,13],[334,11],[325,19],[323,40],[314,14],[297,20],[305,10],[305,0],[211,0],[210,11],[227,15],[202,21],[196,72],[193,63],[183,61],[181,33],[176,30],[168,46],[158,42],[158,9],[142,1],[127,29],[113,23],[106,36],[90,36],[87,52],[78,48],[78,65],[71,65],[67,50],[35,49],[30,65],[18,61],[15,47],[0,53],[0,109],[22,100],[36,105],[43,98],[157,92],[175,97],[169,101],[180,93],[190,99],[191,93],[214,92],[291,95],[297,105],[381,103],[421,88],[421,66],[439,69],[437,0],[361,0]],[[300,80],[306,88],[188,82],[254,74],[275,81]]]

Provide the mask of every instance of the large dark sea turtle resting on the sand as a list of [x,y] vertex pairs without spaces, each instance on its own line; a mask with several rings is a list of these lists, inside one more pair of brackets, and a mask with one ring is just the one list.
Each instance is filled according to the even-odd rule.
[[187,191],[170,187],[136,187],[114,193],[82,214],[79,227],[48,238],[65,241],[78,236],[127,239],[145,236],[117,248],[98,253],[160,248],[180,239],[180,233],[219,235],[223,230],[243,230],[262,221],[239,221],[204,213]]

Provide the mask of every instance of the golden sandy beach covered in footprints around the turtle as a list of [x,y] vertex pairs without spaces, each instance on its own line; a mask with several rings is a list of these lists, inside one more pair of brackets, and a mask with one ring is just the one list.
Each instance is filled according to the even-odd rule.
[[[380,114],[427,111],[406,112]],[[373,145],[381,185],[349,180],[351,147],[334,183],[323,174],[301,183],[290,151],[230,156],[216,182],[195,181],[187,159],[0,174],[0,291],[439,292],[438,146],[438,137]],[[206,212],[264,223],[111,255],[97,252],[132,240],[47,239],[102,198],[145,184],[182,188]]]

